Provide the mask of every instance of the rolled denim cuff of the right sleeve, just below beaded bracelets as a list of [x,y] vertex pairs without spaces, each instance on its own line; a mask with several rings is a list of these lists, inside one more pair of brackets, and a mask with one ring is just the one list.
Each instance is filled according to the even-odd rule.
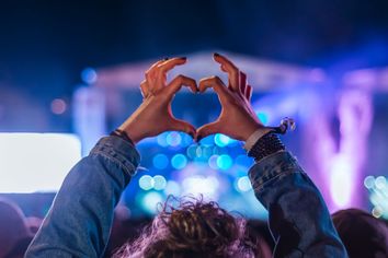
[[273,153],[249,169],[249,178],[255,192],[262,191],[267,184],[292,173],[303,173],[296,159],[287,151]]

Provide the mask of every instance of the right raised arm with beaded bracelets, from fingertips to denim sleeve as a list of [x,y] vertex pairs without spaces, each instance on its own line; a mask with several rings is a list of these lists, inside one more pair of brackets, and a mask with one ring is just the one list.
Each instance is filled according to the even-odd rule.
[[256,164],[249,177],[254,194],[269,210],[275,238],[274,257],[347,257],[319,190],[285,151],[281,140],[256,118],[247,75],[227,58],[215,55],[229,75],[228,86],[217,78],[201,81],[199,91],[213,87],[222,110],[217,121],[197,130],[198,139],[220,132],[246,142]]

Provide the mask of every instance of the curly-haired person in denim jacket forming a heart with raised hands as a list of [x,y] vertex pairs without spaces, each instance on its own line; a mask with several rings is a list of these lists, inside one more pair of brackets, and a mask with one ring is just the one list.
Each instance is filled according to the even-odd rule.
[[[224,133],[246,142],[256,161],[249,171],[254,194],[270,212],[276,242],[275,257],[346,257],[326,203],[297,161],[273,132],[256,118],[247,77],[227,58],[215,61],[228,73],[228,86],[217,78],[201,80],[179,75],[167,83],[167,72],[186,62],[172,58],[156,62],[141,83],[144,102],[110,137],[101,139],[90,155],[66,177],[26,257],[101,257],[113,209],[139,164],[136,144],[147,137],[178,130],[196,140]],[[218,119],[197,130],[173,117],[174,94],[189,86],[194,93],[212,87],[222,106]],[[214,202],[182,203],[164,209],[125,257],[253,257],[258,248],[244,237],[243,222]]]

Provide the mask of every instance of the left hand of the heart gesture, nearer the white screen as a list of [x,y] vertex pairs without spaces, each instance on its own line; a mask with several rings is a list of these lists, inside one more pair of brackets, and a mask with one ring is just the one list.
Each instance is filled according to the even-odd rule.
[[184,131],[195,137],[195,128],[186,121],[174,118],[171,110],[171,102],[182,85],[189,86],[194,93],[198,91],[195,81],[178,75],[167,83],[167,72],[185,62],[186,58],[160,60],[146,72],[146,80],[140,84],[142,103],[119,127],[134,143],[170,130]]

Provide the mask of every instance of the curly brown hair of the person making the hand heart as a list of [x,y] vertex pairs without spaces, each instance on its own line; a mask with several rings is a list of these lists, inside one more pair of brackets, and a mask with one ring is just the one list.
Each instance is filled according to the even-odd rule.
[[[176,201],[175,208],[170,203]],[[246,233],[246,220],[235,218],[203,198],[168,198],[152,223],[113,257],[258,257],[259,239]]]

